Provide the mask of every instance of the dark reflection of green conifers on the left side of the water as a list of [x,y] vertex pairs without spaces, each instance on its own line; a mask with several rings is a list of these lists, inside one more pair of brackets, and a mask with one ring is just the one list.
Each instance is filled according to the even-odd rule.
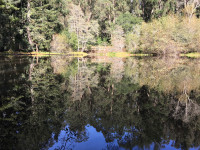
[[63,127],[63,78],[53,74],[50,61],[34,61],[13,57],[1,65],[2,71],[7,70],[0,72],[1,81],[5,79],[5,84],[0,83],[1,149],[40,149]]

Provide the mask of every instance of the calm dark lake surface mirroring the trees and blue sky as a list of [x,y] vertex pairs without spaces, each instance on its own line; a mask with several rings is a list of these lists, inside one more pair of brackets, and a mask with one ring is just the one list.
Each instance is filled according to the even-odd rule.
[[0,57],[1,150],[200,148],[200,59]]

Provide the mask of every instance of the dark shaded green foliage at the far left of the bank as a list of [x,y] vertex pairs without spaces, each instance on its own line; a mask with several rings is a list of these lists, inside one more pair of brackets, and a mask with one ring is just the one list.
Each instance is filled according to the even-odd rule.
[[0,1],[0,51],[26,48],[24,0]]

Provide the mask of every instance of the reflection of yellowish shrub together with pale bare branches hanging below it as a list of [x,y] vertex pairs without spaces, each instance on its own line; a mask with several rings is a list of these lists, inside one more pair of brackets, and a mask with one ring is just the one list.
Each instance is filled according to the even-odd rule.
[[[190,121],[200,114],[200,106],[191,97],[199,93],[199,60],[164,57],[127,60],[126,75],[140,86],[148,86],[172,96],[171,112],[175,119]],[[152,93],[148,93],[151,96]]]

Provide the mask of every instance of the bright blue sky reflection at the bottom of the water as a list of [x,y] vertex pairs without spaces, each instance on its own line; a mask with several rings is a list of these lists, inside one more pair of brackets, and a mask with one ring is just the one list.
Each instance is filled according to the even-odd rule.
[[[55,150],[55,149],[73,149],[73,150],[104,150],[104,149],[108,149],[108,147],[110,147],[110,149],[118,149],[118,150],[126,150],[123,147],[119,147],[117,140],[115,139],[113,142],[111,143],[107,143],[105,141],[105,138],[103,136],[103,134],[101,132],[97,132],[96,129],[90,125],[87,125],[86,127],[86,131],[88,132],[89,135],[89,139],[86,142],[82,142],[82,143],[65,143],[64,139],[66,136],[66,132],[65,130],[62,130],[60,132],[59,135],[59,140],[58,142],[55,141],[55,144],[49,148],[49,150]],[[176,148],[173,148],[171,145],[173,145],[172,140],[170,140],[169,144],[163,144],[161,149],[163,150],[175,150]],[[62,147],[60,148],[61,145],[66,145],[66,147]],[[150,145],[149,148],[145,148],[144,149],[154,149],[154,143],[152,143]],[[112,148],[111,148],[112,147]],[[139,147],[135,146],[132,148],[132,150],[138,150],[140,149]],[[199,149],[199,148],[191,148],[191,150],[193,149]]]

